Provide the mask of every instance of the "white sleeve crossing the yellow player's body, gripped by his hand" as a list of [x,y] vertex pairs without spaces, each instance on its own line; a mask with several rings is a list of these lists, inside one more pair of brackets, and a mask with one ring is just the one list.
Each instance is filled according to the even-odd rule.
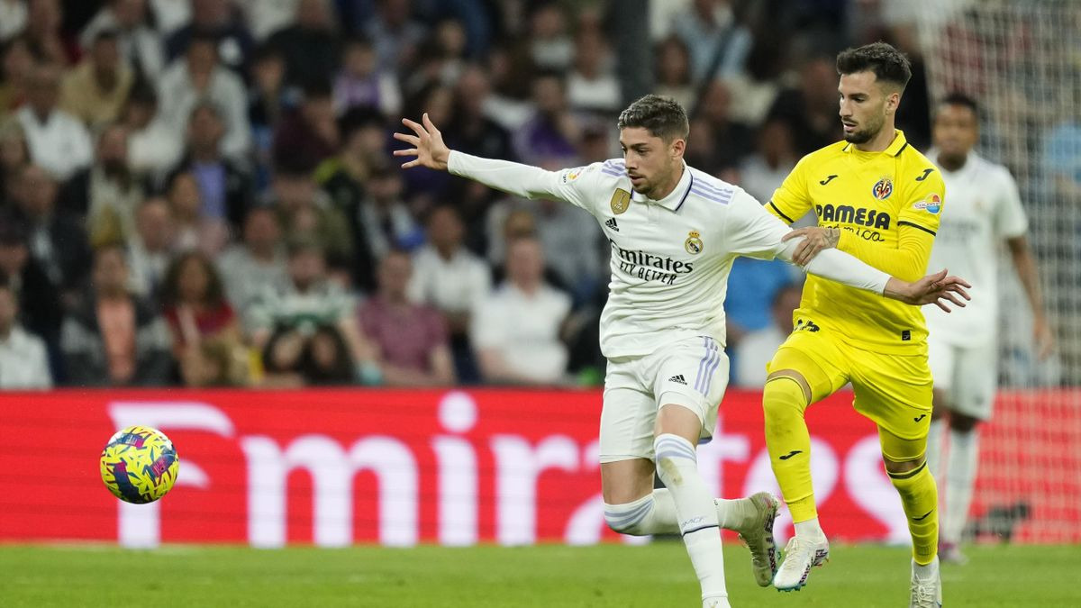
[[[792,263],[792,253],[803,239],[782,241],[791,228],[743,190],[733,197],[731,204],[728,237],[733,253],[763,260],[780,257]],[[876,293],[885,291],[890,280],[890,275],[836,249],[819,251],[804,269],[817,277]]]

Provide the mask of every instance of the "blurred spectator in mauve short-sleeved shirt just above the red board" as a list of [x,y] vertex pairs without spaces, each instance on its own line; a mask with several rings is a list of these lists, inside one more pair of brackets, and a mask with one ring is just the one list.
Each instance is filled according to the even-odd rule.
[[379,262],[378,292],[360,308],[360,326],[379,349],[384,381],[392,386],[454,384],[446,321],[405,294],[413,262],[391,250]]

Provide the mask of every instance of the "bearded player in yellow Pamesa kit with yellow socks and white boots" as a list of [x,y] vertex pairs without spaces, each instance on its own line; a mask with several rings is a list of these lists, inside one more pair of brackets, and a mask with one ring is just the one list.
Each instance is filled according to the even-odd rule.
[[[808,211],[818,226],[797,262],[836,247],[905,280],[924,275],[945,202],[942,176],[894,129],[911,75],[908,58],[877,42],[837,57],[844,140],[802,160],[766,208],[791,223]],[[796,523],[774,578],[779,590],[805,584],[829,543],[811,485],[811,442],[803,413],[851,382],[856,411],[879,429],[885,468],[900,494],[912,536],[913,607],[942,603],[935,481],[924,462],[932,383],[927,331],[919,308],[809,277],[795,330],[769,366],[763,393],[770,461]]]

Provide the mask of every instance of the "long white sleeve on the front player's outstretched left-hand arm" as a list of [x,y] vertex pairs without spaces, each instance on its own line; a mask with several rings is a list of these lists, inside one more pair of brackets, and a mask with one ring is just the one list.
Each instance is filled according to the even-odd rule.
[[545,171],[537,167],[481,158],[451,150],[446,170],[454,175],[480,182],[490,188],[524,198],[563,200],[592,213],[589,203],[589,184],[598,172],[599,163],[588,167]]

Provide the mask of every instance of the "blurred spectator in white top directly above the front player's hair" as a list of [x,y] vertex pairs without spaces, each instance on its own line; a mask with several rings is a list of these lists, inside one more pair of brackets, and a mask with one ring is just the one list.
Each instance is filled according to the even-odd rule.
[[574,65],[566,79],[566,98],[572,108],[599,113],[619,110],[623,97],[613,71],[612,52],[599,31],[583,30],[575,37]]

